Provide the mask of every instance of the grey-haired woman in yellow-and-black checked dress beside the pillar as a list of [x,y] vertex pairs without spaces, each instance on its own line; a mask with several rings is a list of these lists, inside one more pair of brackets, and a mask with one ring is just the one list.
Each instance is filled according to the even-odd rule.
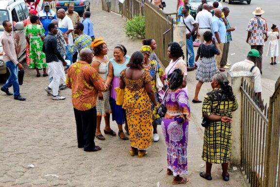
[[210,120],[210,125],[204,131],[202,159],[206,162],[206,172],[199,175],[212,180],[212,164],[222,164],[223,180],[229,180],[227,173],[231,154],[231,112],[236,111],[238,104],[232,88],[228,85],[227,76],[216,73],[211,82],[213,90],[206,94],[203,100],[202,115]]

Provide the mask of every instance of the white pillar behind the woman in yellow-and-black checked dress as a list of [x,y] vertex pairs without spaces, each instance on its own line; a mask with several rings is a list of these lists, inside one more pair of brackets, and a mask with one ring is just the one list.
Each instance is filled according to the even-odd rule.
[[230,165],[241,166],[242,160],[242,93],[240,86],[246,80],[248,85],[254,88],[254,75],[247,71],[227,72],[227,78],[231,84],[232,91],[238,102],[238,109],[232,112],[232,149],[230,157]]

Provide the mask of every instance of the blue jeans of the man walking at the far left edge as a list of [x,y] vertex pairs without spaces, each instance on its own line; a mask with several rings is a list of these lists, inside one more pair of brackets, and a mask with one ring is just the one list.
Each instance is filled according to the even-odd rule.
[[14,89],[14,96],[19,96],[19,84],[18,84],[18,66],[12,61],[6,62],[6,67],[9,69],[10,76],[6,83],[3,85],[4,90],[8,90],[11,86]]

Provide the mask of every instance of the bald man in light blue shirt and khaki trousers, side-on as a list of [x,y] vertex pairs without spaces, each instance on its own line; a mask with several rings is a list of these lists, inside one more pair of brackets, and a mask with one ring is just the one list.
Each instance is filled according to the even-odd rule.
[[215,55],[217,68],[221,72],[224,72],[225,71],[224,68],[228,69],[228,66],[224,66],[224,68],[222,68],[220,63],[223,56],[224,43],[226,43],[227,40],[227,29],[224,20],[221,18],[221,16],[222,16],[222,11],[216,8],[214,10],[211,30],[213,33],[213,38],[216,41],[217,48],[220,51],[220,55]]

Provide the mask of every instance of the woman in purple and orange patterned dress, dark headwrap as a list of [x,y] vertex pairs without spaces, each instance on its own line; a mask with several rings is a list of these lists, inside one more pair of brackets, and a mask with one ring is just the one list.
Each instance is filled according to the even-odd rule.
[[173,174],[174,185],[188,182],[187,178],[180,177],[188,174],[187,145],[191,118],[188,95],[182,89],[186,87],[183,79],[184,74],[180,69],[168,76],[169,90],[162,102],[167,109],[161,123],[167,146],[167,175]]

